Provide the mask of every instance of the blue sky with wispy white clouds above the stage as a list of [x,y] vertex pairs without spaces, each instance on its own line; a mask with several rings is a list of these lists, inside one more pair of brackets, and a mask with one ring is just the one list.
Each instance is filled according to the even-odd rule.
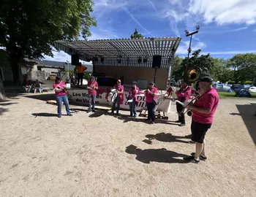
[[[199,25],[192,50],[215,58],[256,53],[256,0],[94,0],[92,15],[97,27],[89,39],[129,38],[137,28],[145,37],[181,36],[176,54],[185,56],[189,38],[184,30]],[[45,58],[70,61],[62,51]]]

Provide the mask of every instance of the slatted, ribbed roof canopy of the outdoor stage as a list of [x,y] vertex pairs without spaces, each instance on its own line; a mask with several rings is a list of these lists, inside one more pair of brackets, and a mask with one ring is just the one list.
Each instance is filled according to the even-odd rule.
[[83,61],[92,58],[171,58],[176,53],[180,37],[143,39],[98,39],[80,41],[56,41],[54,47],[69,55],[78,54]]

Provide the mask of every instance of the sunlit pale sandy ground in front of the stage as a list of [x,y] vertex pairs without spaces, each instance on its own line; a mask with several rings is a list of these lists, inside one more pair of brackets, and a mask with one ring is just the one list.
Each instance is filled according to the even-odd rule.
[[190,117],[181,128],[71,109],[82,110],[59,119],[45,101],[0,103],[0,196],[256,196],[255,100],[220,101],[199,164],[182,160],[195,150],[182,137]]

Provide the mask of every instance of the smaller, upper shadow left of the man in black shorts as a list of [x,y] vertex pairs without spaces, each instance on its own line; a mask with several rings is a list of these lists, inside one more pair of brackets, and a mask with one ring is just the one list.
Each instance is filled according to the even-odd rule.
[[146,135],[146,140],[143,140],[143,142],[147,144],[152,144],[152,139],[156,139],[160,142],[181,142],[181,143],[189,143],[187,141],[181,140],[181,139],[188,139],[185,136],[173,136],[173,134],[165,134],[165,133],[159,133],[155,135],[148,134]]

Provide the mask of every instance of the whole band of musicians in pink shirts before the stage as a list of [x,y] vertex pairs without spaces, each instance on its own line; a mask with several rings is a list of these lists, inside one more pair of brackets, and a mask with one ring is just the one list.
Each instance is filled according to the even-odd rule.
[[[214,113],[217,109],[217,105],[219,103],[219,95],[217,90],[212,87],[213,80],[211,77],[202,77],[198,81],[197,93],[198,97],[194,103],[189,103],[187,108],[192,111],[192,123],[191,123],[191,142],[195,143],[195,152],[191,153],[191,156],[185,157],[184,160],[192,163],[199,163],[200,160],[205,161],[206,157],[206,141],[205,135],[209,128],[211,128],[211,124],[214,121]],[[95,80],[95,77],[91,77],[89,83],[89,112],[95,111],[95,100],[97,95],[98,84]],[[61,117],[61,105],[62,101],[66,106],[67,115],[71,116],[69,112],[69,104],[67,99],[67,87],[64,82],[61,82],[60,77],[56,77],[56,82],[53,84],[53,88],[56,92],[56,101],[58,104],[58,117]],[[116,113],[119,114],[120,104],[124,99],[124,86],[121,85],[121,80],[117,80],[117,84],[114,88],[118,92],[118,96],[115,101],[113,101],[111,113],[114,114],[116,109]],[[170,93],[171,90],[167,90],[167,93]],[[150,82],[148,84],[147,90],[143,93],[146,96],[146,107],[148,110],[148,118],[147,120],[150,123],[154,124],[154,109],[157,105],[157,87],[154,85],[154,82]],[[137,86],[137,82],[132,82],[132,87],[129,89],[129,110],[130,116],[136,117],[136,103],[138,102],[138,93],[139,88]],[[181,89],[176,91],[176,95],[178,97],[178,101],[184,102],[189,100],[191,94],[191,88],[186,82],[181,83]],[[182,111],[179,109],[182,107],[177,104],[177,111]],[[178,115],[178,120],[176,121],[181,123],[181,126],[185,125],[185,115],[181,112]]]

